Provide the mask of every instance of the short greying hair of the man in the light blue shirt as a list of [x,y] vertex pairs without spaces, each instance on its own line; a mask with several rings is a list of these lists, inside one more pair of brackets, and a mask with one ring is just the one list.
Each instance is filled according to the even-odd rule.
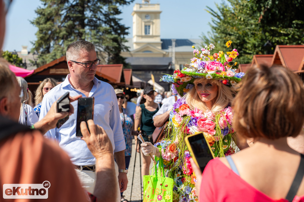
[[95,45],[92,44],[91,42],[85,40],[75,41],[67,46],[67,52],[66,52],[67,62],[69,60],[77,61],[79,59],[79,54],[81,51],[89,52],[92,50],[95,51]]

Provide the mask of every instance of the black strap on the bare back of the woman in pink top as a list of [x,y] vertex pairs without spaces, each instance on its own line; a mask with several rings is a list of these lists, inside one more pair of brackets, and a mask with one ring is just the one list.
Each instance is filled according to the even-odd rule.
[[295,174],[295,178],[293,179],[292,185],[286,196],[286,199],[288,201],[292,201],[294,199],[295,195],[298,192],[300,184],[302,182],[303,176],[304,176],[304,155],[301,154],[301,160],[300,160],[300,165],[299,165],[298,171]]

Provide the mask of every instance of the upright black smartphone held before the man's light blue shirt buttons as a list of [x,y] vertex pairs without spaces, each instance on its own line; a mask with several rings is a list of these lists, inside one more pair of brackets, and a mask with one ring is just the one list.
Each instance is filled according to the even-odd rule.
[[[94,97],[81,97],[78,98],[77,106],[77,119],[76,119],[76,136],[82,137],[80,130],[81,121],[87,122],[88,120],[93,120],[94,115]],[[87,123],[88,127],[88,123]]]

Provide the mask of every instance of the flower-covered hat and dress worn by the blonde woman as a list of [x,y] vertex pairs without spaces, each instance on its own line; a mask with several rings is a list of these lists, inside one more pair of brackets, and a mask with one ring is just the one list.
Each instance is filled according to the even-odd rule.
[[[230,47],[231,41],[226,45]],[[161,79],[172,82],[172,93],[181,96],[181,99],[174,103],[170,113],[171,132],[168,139],[155,144],[164,159],[166,175],[174,179],[173,201],[176,202],[198,201],[196,177],[190,164],[191,153],[184,142],[185,136],[203,132],[216,157],[224,157],[235,152],[236,145],[232,143],[234,132],[231,107],[228,105],[216,113],[210,110],[203,112],[196,107],[190,108],[183,98],[194,87],[196,78],[215,79],[223,85],[237,88],[237,83],[245,75],[232,69],[236,64],[232,61],[238,56],[237,50],[231,48],[227,54],[220,51],[211,55],[210,51],[214,48],[215,46],[210,44],[201,49],[202,52],[194,49],[194,57],[189,65],[184,65],[182,71],[176,70],[173,75],[164,75]]]

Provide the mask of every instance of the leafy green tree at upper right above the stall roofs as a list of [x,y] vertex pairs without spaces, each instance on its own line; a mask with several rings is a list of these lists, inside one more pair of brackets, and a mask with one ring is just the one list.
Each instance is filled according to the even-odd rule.
[[273,54],[276,45],[304,43],[303,0],[226,0],[207,6],[212,15],[211,31],[202,34],[202,45],[216,43],[216,50],[227,50],[225,43],[240,53],[236,61],[250,63],[255,54]]

